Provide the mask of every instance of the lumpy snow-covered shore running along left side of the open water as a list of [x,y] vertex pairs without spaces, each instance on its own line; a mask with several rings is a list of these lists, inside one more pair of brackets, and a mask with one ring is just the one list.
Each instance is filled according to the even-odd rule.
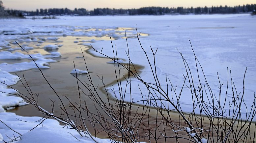
[[[4,22],[5,20],[0,21]],[[10,20],[13,23],[15,20]],[[19,20],[18,20],[19,21]],[[29,20],[27,21],[29,22]],[[6,23],[5,23],[6,24]],[[15,24],[14,24],[15,25]],[[14,72],[20,72],[30,69],[48,69],[50,68],[50,63],[58,62],[54,58],[60,58],[61,53],[56,52],[59,48],[62,48],[62,41],[58,41],[58,36],[94,36],[94,37],[115,37],[116,39],[122,38],[125,35],[122,33],[122,29],[117,27],[75,27],[75,26],[52,26],[51,28],[46,28],[47,26],[25,26],[25,25],[1,25],[0,26],[0,119],[3,121],[0,127],[0,137],[4,141],[10,141],[13,138],[10,136],[23,136],[17,138],[20,142],[49,142],[49,141],[61,141],[61,142],[93,142],[92,139],[85,137],[80,137],[75,131],[71,129],[65,129],[63,126],[59,125],[56,120],[47,119],[43,123],[42,128],[36,128],[35,131],[28,132],[36,126],[39,122],[30,123],[31,121],[39,120],[40,117],[22,117],[16,116],[13,113],[6,113],[5,110],[13,109],[16,106],[23,106],[27,103],[23,101],[22,98],[14,96],[17,91],[15,89],[8,88],[8,85],[16,84],[20,78],[14,74]],[[56,37],[57,36],[57,37]],[[134,35],[133,35],[134,36]],[[79,39],[79,38],[77,38]],[[96,42],[95,39],[74,41],[74,43],[93,43]],[[21,45],[26,51],[30,53],[30,56],[24,52],[24,50],[17,45]],[[55,43],[54,45],[52,43]],[[48,44],[48,45],[46,45]],[[29,46],[28,46],[29,45]],[[42,51],[41,54],[39,51]],[[21,50],[21,51],[20,51]],[[37,53],[37,54],[34,54]],[[37,65],[32,61],[33,58]],[[21,62],[21,61],[26,62]],[[28,62],[27,62],[28,61]],[[71,74],[86,74],[87,71],[80,69],[74,69]],[[68,73],[67,73],[68,74]],[[12,122],[10,122],[12,121]],[[27,121],[27,122],[24,122]],[[7,126],[5,124],[7,124]],[[44,125],[45,124],[45,125]],[[21,128],[22,125],[24,128]],[[14,131],[19,132],[17,134]],[[28,133],[27,133],[28,132]],[[43,137],[42,134],[47,135],[47,138]],[[61,134],[61,136],[59,136]],[[72,134],[72,135],[71,135]],[[76,137],[73,137],[73,135]],[[9,136],[9,137],[8,137]],[[59,136],[56,137],[56,136]],[[109,142],[107,139],[97,139],[99,142]],[[0,141],[2,142],[2,141]]]

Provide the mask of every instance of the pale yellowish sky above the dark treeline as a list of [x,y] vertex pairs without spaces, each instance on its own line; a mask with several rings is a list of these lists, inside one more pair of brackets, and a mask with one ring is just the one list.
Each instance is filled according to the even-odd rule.
[[48,8],[140,8],[160,7],[211,7],[255,4],[256,0],[2,0],[5,8],[19,10],[36,10]]

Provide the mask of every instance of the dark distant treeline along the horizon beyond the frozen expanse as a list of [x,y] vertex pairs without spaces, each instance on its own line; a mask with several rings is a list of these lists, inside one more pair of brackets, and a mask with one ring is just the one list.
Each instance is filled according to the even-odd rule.
[[[0,0],[1,2],[1,0]],[[1,5],[1,7],[3,7]],[[1,8],[0,7],[0,8]],[[164,14],[231,14],[231,13],[255,13],[256,4],[247,4],[243,6],[217,6],[217,7],[197,7],[197,8],[168,8],[168,7],[144,7],[139,9],[109,9],[97,8],[94,10],[87,10],[84,8],[53,8],[53,9],[37,9],[36,11],[21,11],[21,10],[4,10],[6,13],[13,15],[27,15],[27,16],[46,16],[46,15],[164,15]],[[0,9],[1,12],[1,9]]]

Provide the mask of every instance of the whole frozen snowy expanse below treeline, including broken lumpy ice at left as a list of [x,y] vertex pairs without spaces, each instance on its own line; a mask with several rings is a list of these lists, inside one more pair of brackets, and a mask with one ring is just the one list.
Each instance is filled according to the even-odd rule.
[[[197,75],[195,72],[195,59],[188,40],[190,39],[195,54],[203,67],[206,79],[216,95],[218,95],[217,86],[219,85],[217,73],[221,82],[224,82],[223,89],[225,89],[227,86],[227,68],[231,68],[232,79],[234,80],[236,89],[238,93],[242,93],[243,74],[247,67],[244,102],[246,105],[251,105],[254,92],[256,91],[255,25],[256,17],[249,14],[86,17],[60,16],[58,19],[44,20],[5,19],[0,20],[0,59],[20,59],[20,57],[15,57],[15,55],[13,55],[16,52],[15,50],[18,48],[13,49],[10,47],[10,41],[14,42],[14,40],[18,41],[23,39],[21,42],[33,42],[34,40],[37,44],[40,44],[47,40],[56,40],[54,38],[58,36],[94,36],[105,37],[105,40],[84,41],[83,45],[92,44],[92,46],[98,50],[103,48],[102,53],[113,57],[112,45],[109,41],[110,38],[108,38],[112,37],[113,44],[117,46],[119,58],[122,58],[124,62],[128,62],[125,52],[127,51],[126,39],[124,39],[125,31],[124,28],[122,28],[126,27],[126,29],[129,29],[127,31],[127,35],[129,37],[128,45],[130,59],[133,63],[144,66],[140,76],[143,80],[153,83],[154,78],[152,76],[151,69],[145,54],[135,37],[135,26],[137,26],[138,32],[145,33],[145,35],[148,34],[147,36],[142,36],[140,38],[140,42],[146,53],[150,55],[151,62],[152,52],[150,46],[154,51],[158,48],[156,53],[156,74],[164,89],[167,88],[166,77],[171,80],[174,86],[177,85],[177,91],[180,90],[183,84],[183,74],[186,74],[186,71],[183,59],[181,58],[178,50],[185,57],[193,74],[195,76]],[[48,36],[49,39],[40,39],[39,36]],[[74,41],[74,43],[76,43],[76,41]],[[50,45],[48,47],[61,48],[61,45]],[[28,49],[32,48],[28,47]],[[8,54],[6,50],[8,50]],[[1,53],[3,51],[5,53]],[[102,56],[94,52],[93,49],[90,49],[89,52],[95,56]],[[57,55],[58,54],[61,53],[57,53]],[[54,55],[56,56],[56,53],[53,53],[52,56]],[[51,58],[51,56],[45,57],[44,55],[35,56],[39,57],[41,63],[43,61],[42,66],[48,65],[47,60],[44,58]],[[19,61],[15,64],[19,64]],[[95,64],[97,64],[97,62]],[[3,65],[5,66],[0,67],[1,73],[4,71],[16,72],[27,70],[34,66],[29,63],[24,65],[23,63],[23,68],[17,69],[11,66],[8,67],[8,63],[4,63]],[[5,75],[7,75],[6,72],[0,75],[1,80],[5,80]],[[9,77],[11,77],[10,80],[12,81],[10,84],[15,84],[18,81],[15,76],[9,75]],[[123,82],[123,84],[124,83],[125,82]],[[195,80],[195,83],[198,82]],[[131,95],[134,101],[142,99],[138,87],[140,87],[144,95],[147,94],[147,88],[145,88],[136,79],[132,79],[131,85]],[[6,89],[4,85],[0,85],[0,87],[2,89]],[[118,90],[117,85],[114,85],[114,90]],[[126,100],[130,101],[130,96],[126,97]],[[231,95],[228,94],[227,98],[228,100],[231,100]],[[20,99],[15,100],[17,100],[15,105],[22,104]],[[184,112],[191,112],[191,100],[191,94],[189,94],[188,90],[184,90],[180,98],[180,103],[182,103],[181,106]],[[243,113],[245,113],[244,109],[245,108],[242,108]]]

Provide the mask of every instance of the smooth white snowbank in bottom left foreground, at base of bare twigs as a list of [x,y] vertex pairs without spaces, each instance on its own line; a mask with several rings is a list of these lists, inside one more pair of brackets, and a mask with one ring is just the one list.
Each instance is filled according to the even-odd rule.
[[[14,113],[0,113],[0,119],[7,124],[14,131],[22,134],[19,138],[21,139],[19,143],[45,143],[45,142],[61,142],[61,143],[71,143],[71,142],[87,142],[93,143],[94,141],[89,138],[89,136],[81,137],[75,130],[63,128],[58,121],[53,119],[46,119],[43,125],[40,124],[42,117],[24,117],[17,116]],[[26,122],[24,122],[26,121]],[[36,127],[34,130],[28,132],[32,128]],[[70,134],[71,133],[71,134]],[[9,137],[18,137],[19,134],[10,130],[6,125],[0,122],[0,137],[3,137],[5,141],[10,141]],[[7,136],[8,135],[8,136]],[[76,138],[74,138],[74,135]],[[98,139],[98,142],[110,142],[108,139]],[[2,141],[0,141],[2,142]]]

